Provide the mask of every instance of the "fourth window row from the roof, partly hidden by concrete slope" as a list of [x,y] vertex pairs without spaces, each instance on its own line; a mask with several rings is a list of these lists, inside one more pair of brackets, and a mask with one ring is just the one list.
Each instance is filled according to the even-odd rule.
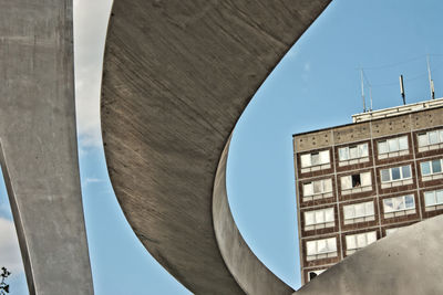
[[[395,232],[398,229],[400,228],[387,229],[387,235]],[[356,251],[375,242],[377,231],[347,234],[344,241],[346,255],[351,255]],[[306,242],[306,254],[307,261],[337,257],[337,238],[327,238]]]

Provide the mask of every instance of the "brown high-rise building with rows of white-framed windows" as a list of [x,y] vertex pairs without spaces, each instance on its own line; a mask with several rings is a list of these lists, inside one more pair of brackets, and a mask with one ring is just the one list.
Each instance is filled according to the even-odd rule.
[[301,281],[443,213],[443,98],[293,135]]

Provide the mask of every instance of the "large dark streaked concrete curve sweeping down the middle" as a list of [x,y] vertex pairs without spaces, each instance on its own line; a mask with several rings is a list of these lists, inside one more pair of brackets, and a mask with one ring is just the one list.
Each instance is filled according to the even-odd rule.
[[111,180],[142,243],[194,293],[291,293],[214,181],[243,109],[329,1],[114,2],[101,103]]

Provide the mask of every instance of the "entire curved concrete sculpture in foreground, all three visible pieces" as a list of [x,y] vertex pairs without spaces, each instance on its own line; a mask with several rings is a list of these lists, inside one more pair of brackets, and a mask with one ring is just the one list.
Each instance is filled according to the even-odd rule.
[[[265,6],[266,3],[266,6]],[[102,115],[110,175],[150,252],[198,294],[290,294],[226,196],[229,136],[328,0],[117,0]],[[92,294],[76,157],[72,2],[0,0],[0,164],[31,294]],[[442,294],[443,217],[401,229],[300,294]]]

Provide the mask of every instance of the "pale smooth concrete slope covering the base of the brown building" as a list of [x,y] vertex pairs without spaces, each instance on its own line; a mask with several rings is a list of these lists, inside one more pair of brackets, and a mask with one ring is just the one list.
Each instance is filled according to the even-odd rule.
[[443,215],[408,228],[336,264],[297,295],[443,294]]

